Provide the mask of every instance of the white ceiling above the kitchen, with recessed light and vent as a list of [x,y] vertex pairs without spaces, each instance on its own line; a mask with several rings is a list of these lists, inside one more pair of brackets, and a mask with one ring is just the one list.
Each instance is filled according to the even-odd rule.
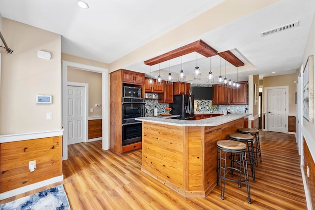
[[[61,34],[63,53],[111,63],[223,1],[86,0],[89,9],[81,9],[76,0],[0,0],[0,14],[4,18]],[[245,63],[238,69],[231,67],[232,80],[233,70],[238,71],[239,81],[248,80],[248,75],[252,74],[259,74],[262,78],[295,73],[301,65],[314,13],[314,0],[281,0],[208,31],[195,40],[202,39],[218,52],[231,50]],[[299,21],[296,28],[260,36],[260,32],[295,21]],[[7,44],[10,47],[10,43]],[[202,55],[191,53],[183,56],[183,70],[189,82],[205,83],[205,79],[191,80],[196,57],[205,78],[210,60]],[[171,62],[171,72],[177,78],[181,59],[160,63],[160,75],[166,77]],[[150,67],[143,61],[124,68],[150,75]],[[220,74],[219,65],[219,56],[212,57],[211,69],[216,76]],[[158,75],[158,68],[158,64],[152,66],[152,76]],[[276,73],[271,73],[273,71]],[[221,60],[221,75],[225,73],[229,78],[229,63]]]

